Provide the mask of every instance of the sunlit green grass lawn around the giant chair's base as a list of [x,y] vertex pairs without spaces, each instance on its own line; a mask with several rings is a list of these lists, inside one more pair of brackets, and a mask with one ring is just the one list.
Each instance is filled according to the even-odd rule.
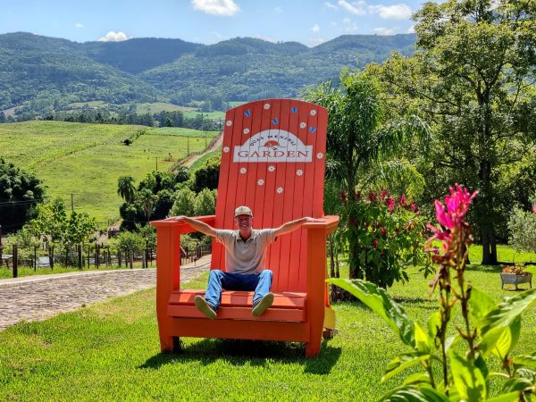
[[[415,269],[410,276],[389,293],[426,322],[435,297]],[[514,294],[500,289],[498,268],[471,267],[467,277],[497,300]],[[0,400],[376,400],[403,380],[378,383],[386,364],[407,349],[366,307],[334,308],[339,334],[314,359],[299,344],[215,339],[183,339],[182,354],[161,354],[155,289],[21,323],[0,332]],[[536,350],[534,306],[523,314],[517,349]],[[490,369],[498,370],[498,361]],[[499,385],[491,382],[492,395]]]

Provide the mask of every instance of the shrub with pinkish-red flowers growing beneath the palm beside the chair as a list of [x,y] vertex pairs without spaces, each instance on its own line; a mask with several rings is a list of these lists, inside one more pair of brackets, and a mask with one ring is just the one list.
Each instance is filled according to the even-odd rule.
[[350,278],[366,279],[381,288],[407,281],[406,266],[426,264],[423,253],[425,220],[413,201],[392,196],[386,190],[349,200],[341,190],[347,222]]

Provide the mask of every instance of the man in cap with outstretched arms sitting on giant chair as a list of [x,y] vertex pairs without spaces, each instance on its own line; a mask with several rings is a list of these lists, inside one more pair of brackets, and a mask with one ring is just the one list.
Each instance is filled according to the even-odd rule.
[[272,271],[264,269],[266,249],[285,233],[301,228],[307,222],[322,222],[322,219],[301,218],[282,224],[277,229],[253,229],[253,213],[247,206],[235,210],[235,223],[238,230],[214,229],[205,222],[188,216],[168,218],[173,221],[187,222],[201,233],[216,238],[225,247],[225,264],[228,272],[211,270],[205,298],[197,295],[194,303],[201,313],[214,320],[222,300],[222,289],[255,290],[251,314],[261,315],[272,306]]

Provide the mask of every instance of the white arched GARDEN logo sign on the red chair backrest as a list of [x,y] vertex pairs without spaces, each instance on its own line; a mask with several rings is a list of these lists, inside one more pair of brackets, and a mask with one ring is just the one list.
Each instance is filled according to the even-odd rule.
[[311,162],[313,146],[286,130],[264,130],[234,148],[233,162]]

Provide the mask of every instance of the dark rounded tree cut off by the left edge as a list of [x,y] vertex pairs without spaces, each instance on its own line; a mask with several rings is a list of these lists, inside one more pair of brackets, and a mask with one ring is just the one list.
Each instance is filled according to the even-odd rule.
[[0,225],[4,231],[20,229],[44,197],[45,186],[37,176],[0,158]]

